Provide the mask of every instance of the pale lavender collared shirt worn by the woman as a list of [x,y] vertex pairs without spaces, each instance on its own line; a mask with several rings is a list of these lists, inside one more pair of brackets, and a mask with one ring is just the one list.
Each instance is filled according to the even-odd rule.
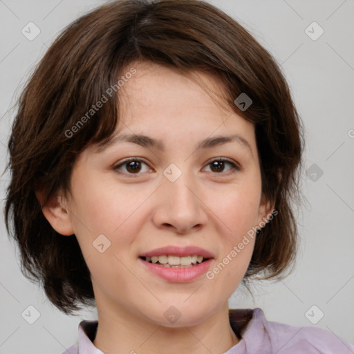
[[[261,308],[230,309],[229,318],[240,340],[224,354],[354,354],[353,345],[329,330],[268,321]],[[104,354],[93,345],[97,324],[80,322],[77,344],[62,354]]]

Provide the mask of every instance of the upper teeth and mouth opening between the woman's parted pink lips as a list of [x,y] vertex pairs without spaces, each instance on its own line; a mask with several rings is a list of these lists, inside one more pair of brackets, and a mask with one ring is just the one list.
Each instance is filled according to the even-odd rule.
[[161,255],[161,256],[153,256],[153,257],[140,257],[140,258],[144,261],[147,261],[148,263],[161,265],[162,267],[165,268],[192,268],[209,259],[209,258],[204,258],[203,256],[198,256],[196,254],[192,256],[185,256],[185,257]]

